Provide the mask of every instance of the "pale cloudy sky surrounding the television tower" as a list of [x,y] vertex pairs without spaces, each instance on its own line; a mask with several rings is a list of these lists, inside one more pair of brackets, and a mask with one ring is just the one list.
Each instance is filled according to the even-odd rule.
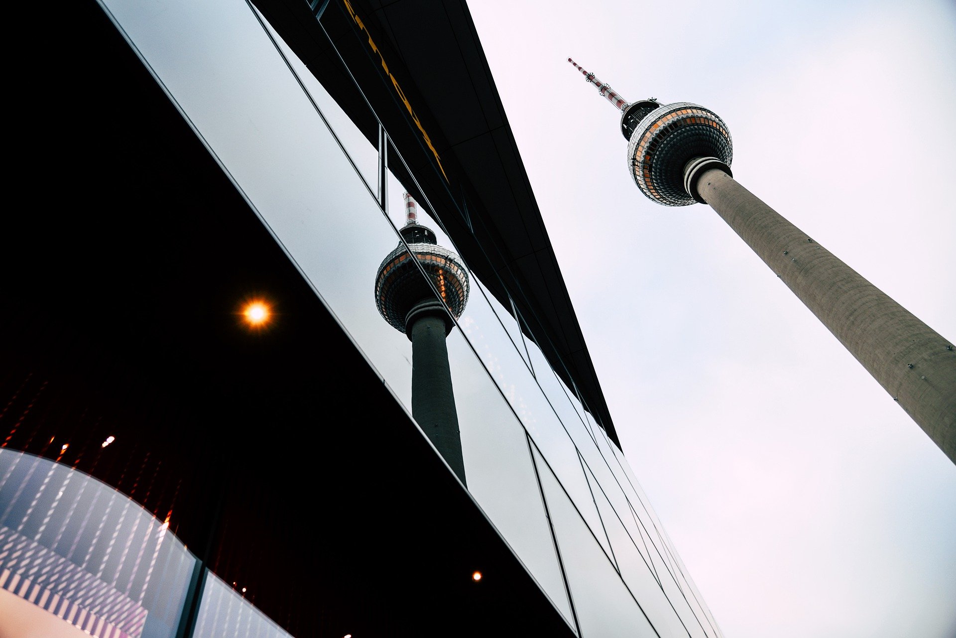
[[956,5],[469,8],[622,447],[728,637],[956,635],[956,467],[716,213],[641,195],[566,61],[716,111],[744,186],[953,340]]

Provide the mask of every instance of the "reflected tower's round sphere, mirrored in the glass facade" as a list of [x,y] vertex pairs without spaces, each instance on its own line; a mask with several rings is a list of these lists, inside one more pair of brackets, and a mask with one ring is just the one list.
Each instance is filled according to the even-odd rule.
[[[458,319],[468,300],[468,275],[458,255],[434,244],[409,244],[418,264],[431,279],[445,307]],[[375,281],[375,302],[381,316],[399,332],[419,301],[434,298],[435,291],[422,276],[411,254],[399,245],[381,262]]]

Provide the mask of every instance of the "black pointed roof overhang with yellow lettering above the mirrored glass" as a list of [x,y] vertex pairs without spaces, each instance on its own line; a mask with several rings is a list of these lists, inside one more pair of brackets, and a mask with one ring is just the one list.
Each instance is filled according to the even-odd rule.
[[466,3],[252,2],[370,143],[381,121],[415,176],[390,162],[402,186],[619,445]]

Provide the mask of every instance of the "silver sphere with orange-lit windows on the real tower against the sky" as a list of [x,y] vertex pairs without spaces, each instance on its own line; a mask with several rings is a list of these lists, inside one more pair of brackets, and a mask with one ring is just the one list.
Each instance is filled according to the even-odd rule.
[[648,198],[664,206],[689,206],[684,166],[697,157],[716,157],[727,165],[733,143],[727,124],[699,104],[664,104],[641,121],[627,145],[631,177]]

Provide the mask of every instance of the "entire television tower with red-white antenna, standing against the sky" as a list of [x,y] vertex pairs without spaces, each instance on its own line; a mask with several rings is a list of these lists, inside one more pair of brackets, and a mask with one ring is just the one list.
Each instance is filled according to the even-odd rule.
[[690,102],[627,102],[568,61],[620,110],[627,168],[641,192],[663,206],[716,210],[956,463],[952,341],[740,186],[728,126],[716,113]]

